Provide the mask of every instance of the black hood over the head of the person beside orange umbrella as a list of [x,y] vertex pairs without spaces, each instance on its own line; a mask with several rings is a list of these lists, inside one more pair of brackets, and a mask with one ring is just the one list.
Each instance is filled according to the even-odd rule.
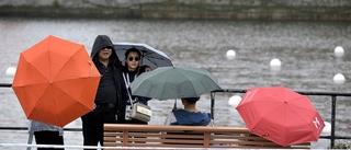
[[97,55],[99,54],[99,51],[104,48],[104,47],[111,47],[112,48],[112,55],[110,60],[112,60],[113,62],[118,62],[121,64],[118,56],[113,47],[113,44],[110,39],[110,37],[107,35],[98,35],[94,42],[94,45],[92,46],[92,50],[90,54],[90,57],[93,61],[97,61]]

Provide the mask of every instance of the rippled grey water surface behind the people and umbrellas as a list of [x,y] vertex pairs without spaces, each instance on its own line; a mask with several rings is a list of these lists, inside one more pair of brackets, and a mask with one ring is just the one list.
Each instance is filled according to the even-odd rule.
[[[264,22],[264,21],[162,21],[162,20],[43,20],[0,19],[0,82],[12,83],[5,76],[16,67],[20,53],[48,35],[83,44],[90,54],[97,35],[106,34],[113,42],[146,43],[165,51],[178,67],[207,69],[224,89],[284,85],[295,91],[348,92],[351,89],[351,24],[348,22]],[[336,46],[346,50],[335,57]],[[228,49],[236,58],[228,60]],[[282,61],[280,71],[270,69],[270,60]],[[336,84],[336,73],[346,77]],[[218,126],[245,126],[227,101],[233,94],[218,93],[215,123]],[[330,97],[308,96],[326,122],[330,122]],[[27,126],[27,120],[12,89],[0,91],[0,126]],[[154,116],[150,124],[162,124],[173,100],[150,101]],[[337,135],[351,135],[350,97],[338,97]],[[178,106],[181,106],[178,101]],[[210,112],[205,94],[199,108]],[[81,127],[80,119],[67,127]],[[26,142],[27,132],[1,131],[0,142]],[[81,134],[66,132],[66,145],[82,145]],[[319,140],[314,148],[325,148]]]

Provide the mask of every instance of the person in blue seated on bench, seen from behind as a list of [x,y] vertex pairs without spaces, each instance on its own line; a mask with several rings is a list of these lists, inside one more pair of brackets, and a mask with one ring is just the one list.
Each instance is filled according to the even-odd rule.
[[199,97],[182,97],[184,108],[173,109],[165,120],[165,125],[213,126],[210,113],[196,108]]

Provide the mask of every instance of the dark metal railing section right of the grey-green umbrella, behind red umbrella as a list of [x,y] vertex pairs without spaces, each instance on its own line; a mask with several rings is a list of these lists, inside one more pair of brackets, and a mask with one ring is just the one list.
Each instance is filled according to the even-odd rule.
[[[235,89],[223,89],[211,92],[211,114],[214,115],[214,100],[215,93],[217,92],[229,92],[229,93],[246,93],[246,90],[235,90]],[[331,93],[331,92],[305,92],[305,91],[295,91],[303,95],[325,95],[331,97],[331,131],[330,136],[320,136],[322,139],[330,139],[330,147],[335,147],[336,139],[351,139],[351,136],[336,136],[336,107],[337,107],[337,96],[350,96],[351,93]]]

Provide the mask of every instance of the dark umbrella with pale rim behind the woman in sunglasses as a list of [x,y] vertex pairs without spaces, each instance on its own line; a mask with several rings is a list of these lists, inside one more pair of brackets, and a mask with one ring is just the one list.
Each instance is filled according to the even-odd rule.
[[157,50],[154,47],[147,44],[136,44],[136,43],[115,43],[113,44],[114,49],[120,58],[120,60],[124,64],[125,57],[124,54],[129,48],[136,48],[141,53],[141,65],[147,65],[151,67],[154,70],[158,67],[169,67],[173,66],[170,58],[161,50]]

